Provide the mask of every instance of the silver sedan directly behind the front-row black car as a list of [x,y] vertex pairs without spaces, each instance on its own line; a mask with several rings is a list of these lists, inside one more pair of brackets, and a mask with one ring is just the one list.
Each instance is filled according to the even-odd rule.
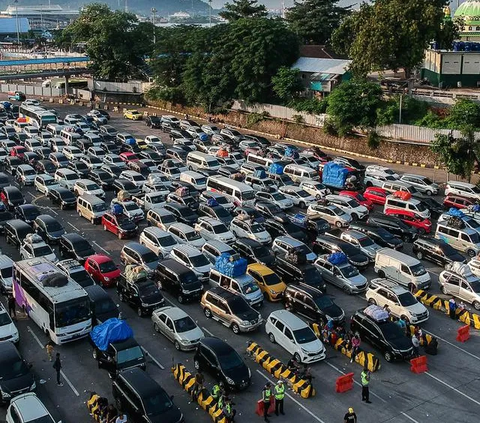
[[181,308],[166,306],[152,313],[153,328],[173,342],[178,351],[191,351],[204,338],[203,331]]

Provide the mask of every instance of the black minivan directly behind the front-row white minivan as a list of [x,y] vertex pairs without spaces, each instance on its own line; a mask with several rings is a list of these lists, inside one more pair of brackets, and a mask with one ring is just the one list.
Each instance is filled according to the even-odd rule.
[[345,321],[345,312],[330,296],[303,283],[287,286],[283,293],[283,304],[287,310],[301,314],[322,327],[328,320],[336,325]]

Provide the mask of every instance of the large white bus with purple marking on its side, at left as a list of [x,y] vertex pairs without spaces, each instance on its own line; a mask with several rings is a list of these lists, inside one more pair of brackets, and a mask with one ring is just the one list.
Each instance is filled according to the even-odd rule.
[[14,263],[13,296],[58,345],[82,338],[92,329],[87,292],[44,257]]

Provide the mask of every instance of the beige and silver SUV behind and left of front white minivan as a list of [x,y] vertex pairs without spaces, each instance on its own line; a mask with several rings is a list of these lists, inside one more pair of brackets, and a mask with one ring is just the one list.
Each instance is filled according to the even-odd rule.
[[263,323],[261,314],[249,306],[243,297],[220,286],[206,291],[200,305],[208,319],[219,321],[237,335],[254,331]]

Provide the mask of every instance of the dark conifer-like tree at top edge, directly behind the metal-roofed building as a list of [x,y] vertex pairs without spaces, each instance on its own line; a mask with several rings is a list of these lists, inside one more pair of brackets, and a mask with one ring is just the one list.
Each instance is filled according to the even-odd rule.
[[350,13],[350,7],[338,6],[339,0],[295,0],[288,9],[290,28],[305,43],[327,44],[332,32]]

